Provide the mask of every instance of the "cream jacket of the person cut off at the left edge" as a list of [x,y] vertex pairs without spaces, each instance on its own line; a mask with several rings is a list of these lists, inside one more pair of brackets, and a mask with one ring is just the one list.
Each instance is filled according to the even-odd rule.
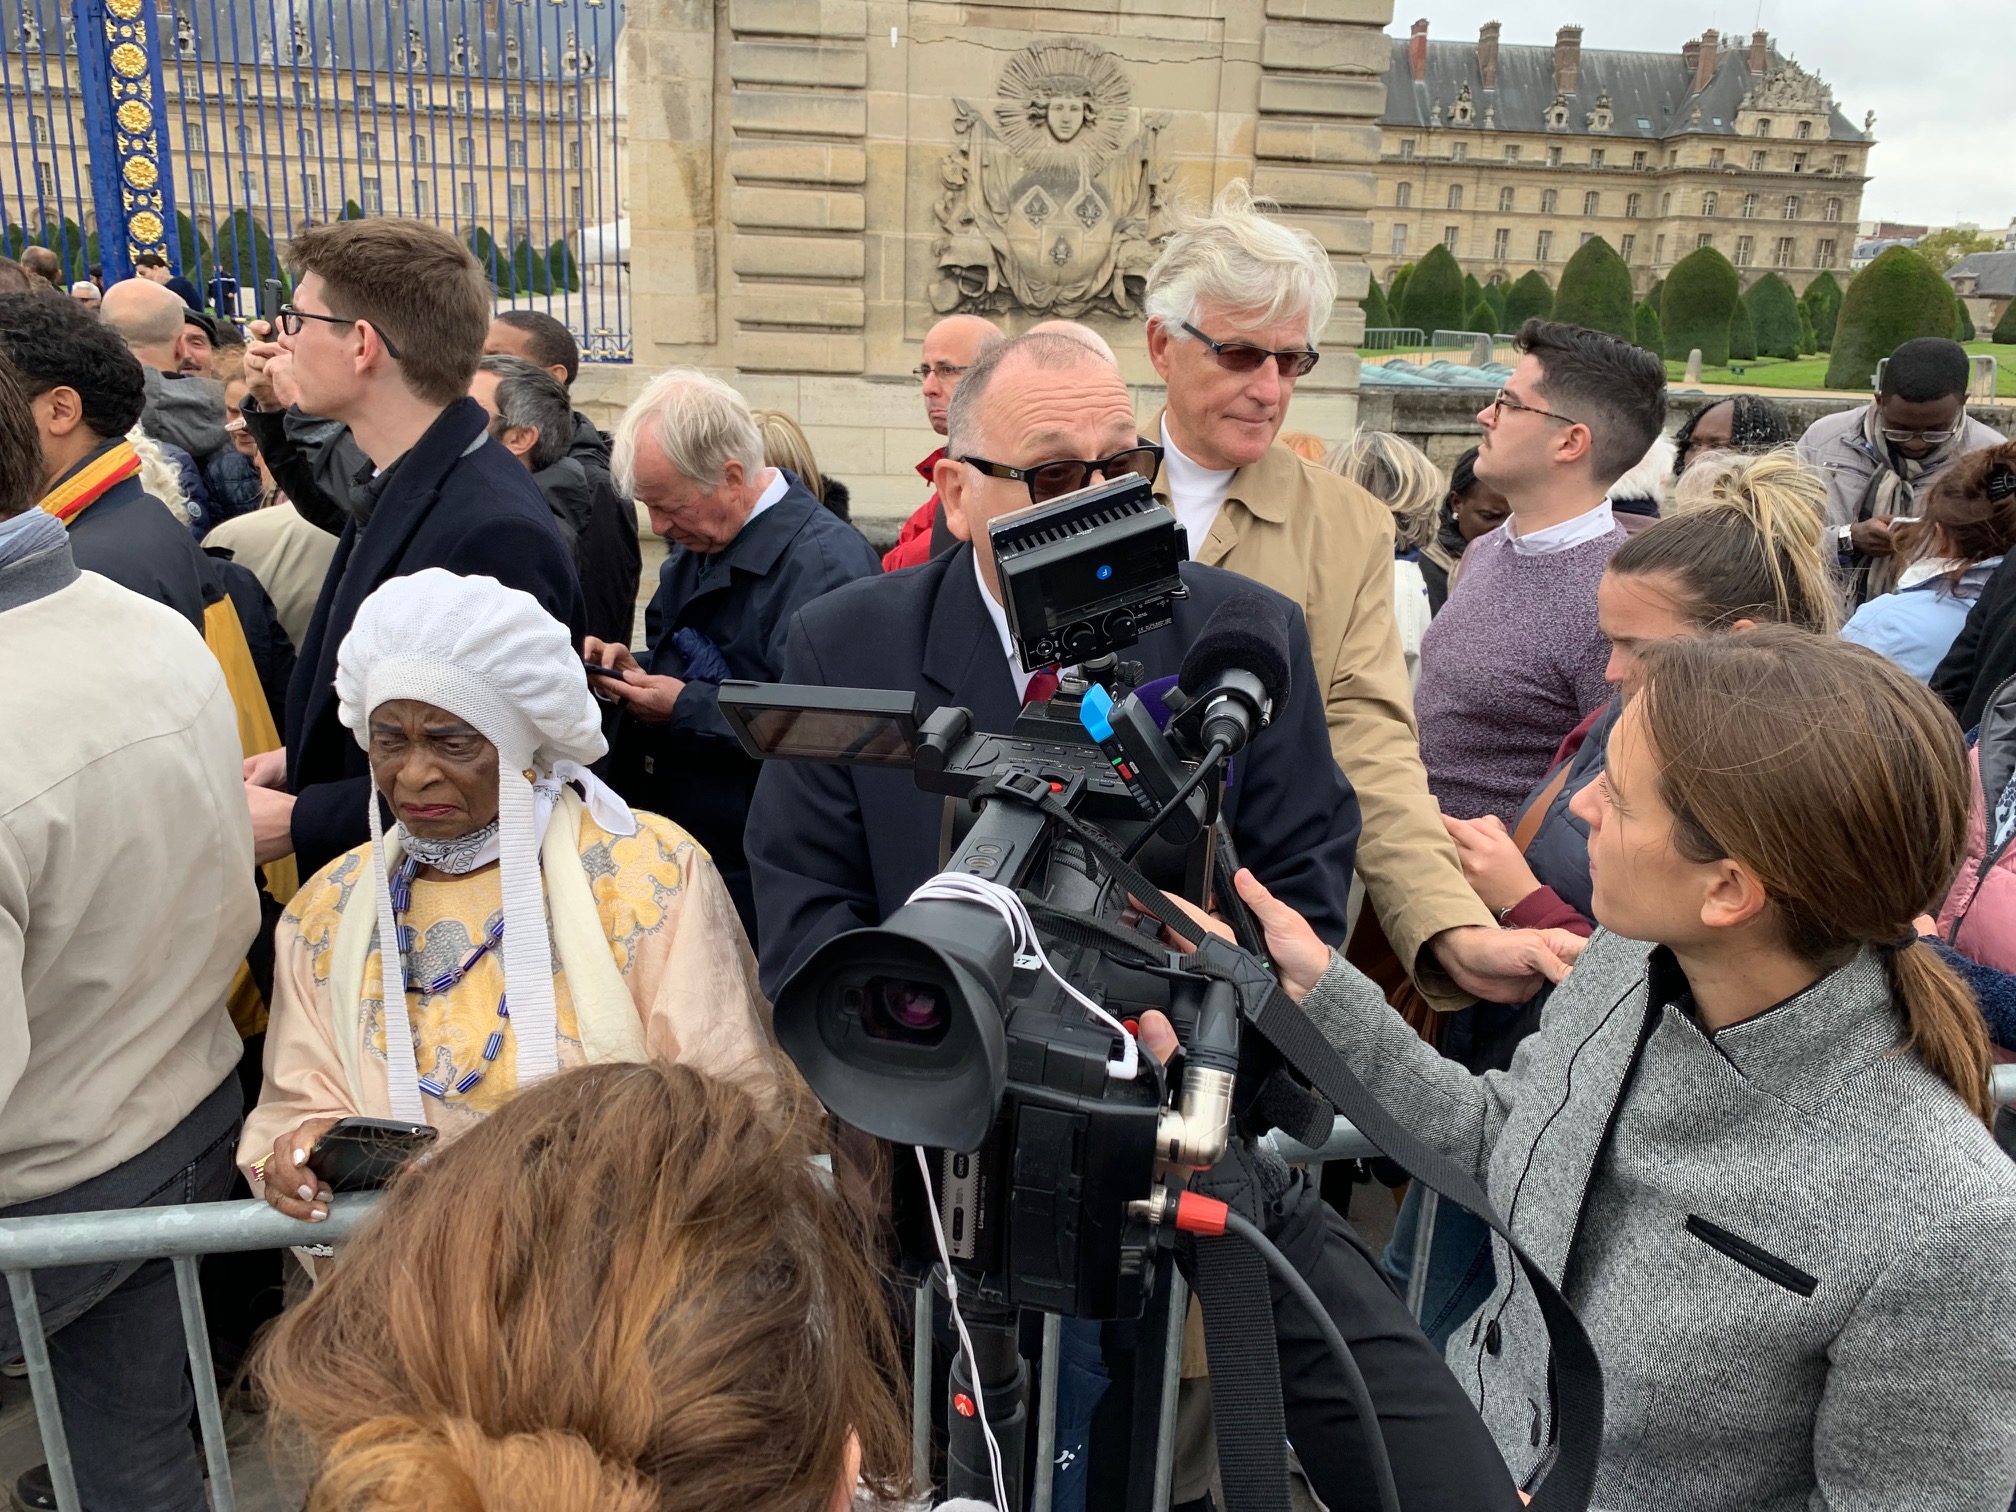
[[0,575],[0,1208],[103,1175],[238,1064],[258,931],[238,716],[190,621],[69,548]]

